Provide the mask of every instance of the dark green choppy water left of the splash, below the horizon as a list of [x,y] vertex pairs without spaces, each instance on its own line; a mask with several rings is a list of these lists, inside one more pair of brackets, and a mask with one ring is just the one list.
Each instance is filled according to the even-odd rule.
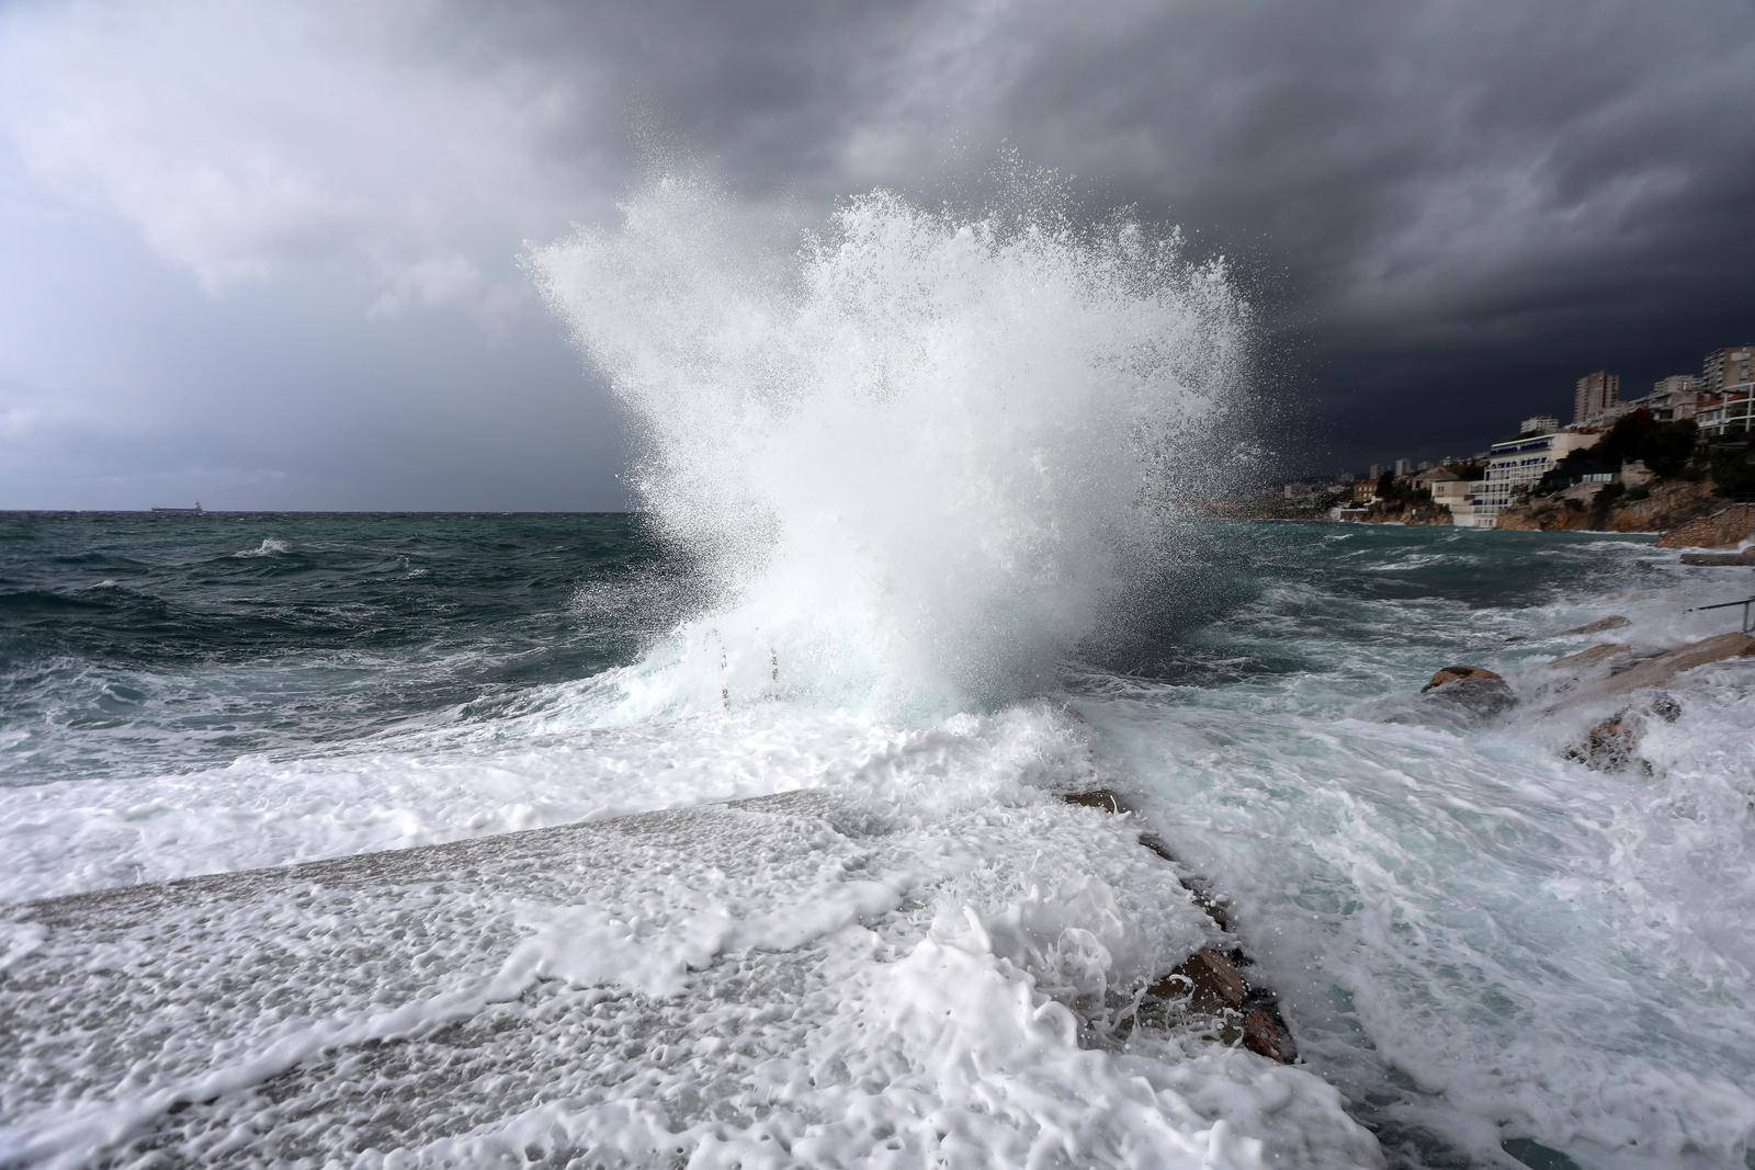
[[0,775],[483,716],[628,661],[688,588],[627,514],[0,514]]

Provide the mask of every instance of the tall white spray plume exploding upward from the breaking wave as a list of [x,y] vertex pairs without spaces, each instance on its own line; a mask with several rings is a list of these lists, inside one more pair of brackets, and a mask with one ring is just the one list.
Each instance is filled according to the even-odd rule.
[[532,254],[716,595],[648,663],[655,703],[776,675],[1011,698],[1160,575],[1243,416],[1250,314],[1179,233],[1069,207],[1049,184],[967,214],[876,191],[765,247],[667,175]]

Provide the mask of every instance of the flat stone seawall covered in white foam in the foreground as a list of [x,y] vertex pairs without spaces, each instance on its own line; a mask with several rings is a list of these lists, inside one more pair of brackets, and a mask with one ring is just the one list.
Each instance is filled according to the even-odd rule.
[[[7,905],[0,1166],[1025,1165],[1049,1142],[1116,1165],[1260,1140],[1381,1168],[1339,1095],[1278,1065],[1272,995],[1183,879],[1128,817],[1046,795],[888,814],[807,791]],[[1081,975],[1121,944],[1134,982]],[[1241,1105],[1207,1116],[1190,1086]]]

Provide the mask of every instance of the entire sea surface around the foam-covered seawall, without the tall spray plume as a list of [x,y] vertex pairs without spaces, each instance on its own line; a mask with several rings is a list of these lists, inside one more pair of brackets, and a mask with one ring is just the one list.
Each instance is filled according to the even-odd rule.
[[[1230,895],[1392,1165],[1755,1165],[1755,670],[1673,688],[1643,775],[1562,758],[1616,703],[1543,667],[1748,593],[1643,537],[1214,521],[1034,684],[899,705],[691,624],[639,516],[9,514],[0,902],[909,767],[1095,779]],[[1451,661],[1520,707],[1423,703]]]

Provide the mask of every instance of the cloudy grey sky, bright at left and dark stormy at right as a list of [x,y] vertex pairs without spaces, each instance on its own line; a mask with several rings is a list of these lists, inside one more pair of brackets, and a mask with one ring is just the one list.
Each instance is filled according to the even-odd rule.
[[1237,258],[1309,465],[1755,340],[1755,9],[0,7],[0,507],[583,509],[630,435],[518,267],[642,133],[753,203],[1002,144]]

